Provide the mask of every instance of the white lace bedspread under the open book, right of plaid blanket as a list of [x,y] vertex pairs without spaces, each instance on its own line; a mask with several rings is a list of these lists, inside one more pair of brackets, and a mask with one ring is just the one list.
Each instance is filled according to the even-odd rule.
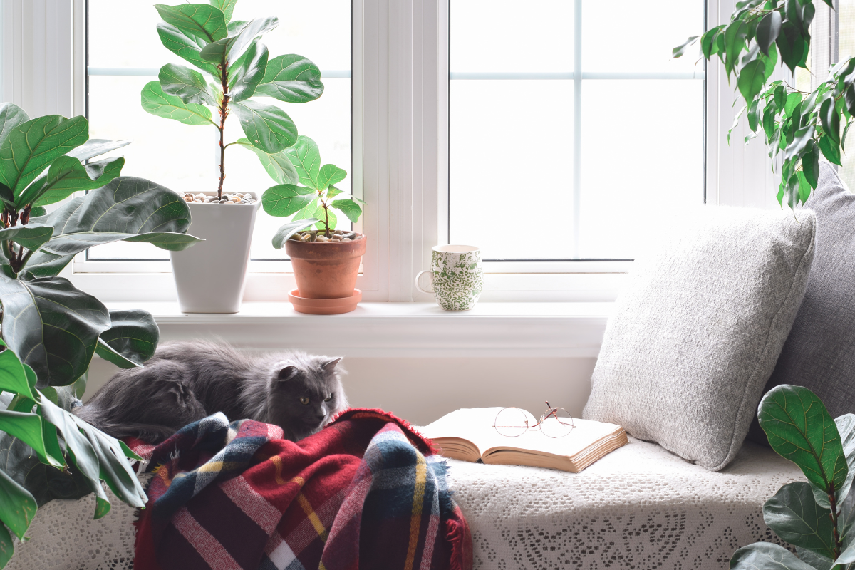
[[746,443],[718,473],[630,438],[581,473],[449,460],[475,568],[728,568],[735,549],[780,542],[763,503],[793,463]]

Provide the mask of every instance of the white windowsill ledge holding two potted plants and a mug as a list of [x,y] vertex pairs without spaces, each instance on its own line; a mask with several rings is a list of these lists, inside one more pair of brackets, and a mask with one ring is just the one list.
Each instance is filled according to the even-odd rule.
[[350,357],[597,356],[614,303],[478,303],[459,313],[436,303],[360,303],[351,313],[301,314],[291,303],[244,303],[236,314],[181,313],[177,303],[107,303],[144,309],[162,340],[222,338],[246,349]]

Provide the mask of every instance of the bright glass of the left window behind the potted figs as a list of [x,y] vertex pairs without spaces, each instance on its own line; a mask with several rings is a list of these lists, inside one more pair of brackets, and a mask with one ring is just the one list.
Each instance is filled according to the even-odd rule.
[[[313,138],[325,162],[339,165],[348,177],[337,186],[351,189],[351,0],[254,0],[238,3],[233,20],[275,15],[279,26],[264,34],[271,54],[299,54],[321,68],[323,95],[310,103],[264,102],[285,109],[300,134]],[[149,115],[140,106],[143,86],[157,79],[167,62],[186,64],[161,44],[161,18],[151,0],[89,0],[87,114],[92,138],[133,138],[115,154],[126,156],[123,175],[142,176],[177,192],[215,192],[218,185],[219,133],[214,126],[188,126]],[[133,22],[134,33],[116,22]],[[236,120],[226,141],[244,137]],[[233,145],[226,151],[224,192],[261,195],[274,185],[250,150]],[[346,221],[346,220],[345,220]],[[270,238],[282,225],[259,210],[252,238],[254,261],[281,260]],[[339,225],[339,226],[343,226]],[[147,244],[116,243],[93,250],[89,260],[165,260],[166,252]],[[275,267],[278,266],[274,266]]]

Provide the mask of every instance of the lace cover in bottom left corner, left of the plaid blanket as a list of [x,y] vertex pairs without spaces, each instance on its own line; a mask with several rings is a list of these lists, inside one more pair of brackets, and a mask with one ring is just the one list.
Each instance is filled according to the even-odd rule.
[[[143,488],[149,474],[140,477]],[[95,495],[76,501],[54,500],[38,508],[27,530],[29,540],[12,537],[15,554],[5,570],[133,570],[136,509],[105,486],[110,509],[98,520]]]

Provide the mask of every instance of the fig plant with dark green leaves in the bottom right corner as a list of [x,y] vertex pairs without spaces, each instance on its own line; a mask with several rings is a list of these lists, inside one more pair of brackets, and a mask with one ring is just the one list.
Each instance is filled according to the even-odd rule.
[[850,567],[855,562],[855,414],[833,420],[813,392],[781,385],[764,396],[758,419],[772,449],[798,465],[807,479],[782,486],[763,506],[766,525],[796,554],[779,544],[755,543],[737,550],[730,567]]

